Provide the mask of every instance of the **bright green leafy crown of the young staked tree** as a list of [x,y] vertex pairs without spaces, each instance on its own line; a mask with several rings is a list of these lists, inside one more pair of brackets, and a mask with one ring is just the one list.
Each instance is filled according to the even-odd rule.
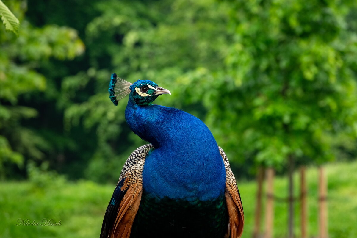
[[226,71],[205,104],[228,153],[237,148],[241,157],[281,168],[288,156],[330,160],[337,135],[356,138],[356,68],[346,57],[357,53],[356,32],[346,27],[353,4],[231,4]]

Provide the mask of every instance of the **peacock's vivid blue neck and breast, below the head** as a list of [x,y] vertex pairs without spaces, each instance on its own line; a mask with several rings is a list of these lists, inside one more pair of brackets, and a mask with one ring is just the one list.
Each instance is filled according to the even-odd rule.
[[125,118],[134,133],[154,145],[143,171],[144,191],[154,197],[217,198],[226,173],[212,133],[197,117],[176,108],[139,106],[129,99]]

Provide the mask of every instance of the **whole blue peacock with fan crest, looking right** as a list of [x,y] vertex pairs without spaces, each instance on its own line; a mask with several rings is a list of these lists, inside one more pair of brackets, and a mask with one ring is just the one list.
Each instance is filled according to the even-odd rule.
[[152,104],[165,93],[151,80],[111,75],[111,101],[129,94],[126,121],[150,144],[125,162],[100,237],[241,237],[243,207],[225,152],[197,117]]

